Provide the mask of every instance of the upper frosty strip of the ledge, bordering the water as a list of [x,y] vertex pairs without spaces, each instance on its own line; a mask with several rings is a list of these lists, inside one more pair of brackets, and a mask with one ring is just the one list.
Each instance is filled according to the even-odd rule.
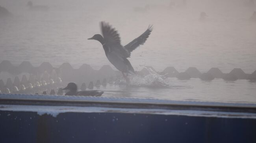
[[142,98],[109,98],[93,96],[59,96],[37,94],[0,94],[0,100],[40,100],[40,101],[75,101],[75,102],[98,102],[98,103],[138,103],[154,105],[190,105],[190,106],[214,106],[214,107],[250,107],[256,108],[256,103],[224,103],[207,101],[173,101]]

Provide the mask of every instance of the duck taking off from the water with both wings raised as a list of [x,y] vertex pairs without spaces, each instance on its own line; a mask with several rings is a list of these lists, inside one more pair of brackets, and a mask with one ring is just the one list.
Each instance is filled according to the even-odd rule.
[[141,36],[125,46],[121,45],[119,34],[111,25],[106,22],[101,22],[100,25],[103,37],[100,34],[95,34],[92,38],[88,38],[88,40],[97,40],[102,44],[109,62],[121,71],[126,81],[128,81],[128,74],[135,74],[135,71],[127,58],[130,57],[134,49],[145,43],[153,30],[152,25],[149,25],[148,29]]

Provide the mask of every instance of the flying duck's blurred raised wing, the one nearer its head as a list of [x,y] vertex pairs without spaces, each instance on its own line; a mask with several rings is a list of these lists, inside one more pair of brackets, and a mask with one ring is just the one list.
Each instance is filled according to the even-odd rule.
[[109,52],[115,52],[123,58],[130,57],[130,52],[128,52],[122,45],[119,34],[112,28],[108,23],[101,22],[102,35],[104,37],[104,42],[108,45]]

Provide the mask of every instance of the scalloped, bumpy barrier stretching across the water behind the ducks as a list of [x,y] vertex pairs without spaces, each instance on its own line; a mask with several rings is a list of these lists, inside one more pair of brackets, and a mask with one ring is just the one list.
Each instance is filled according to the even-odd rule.
[[[149,71],[149,69],[151,71]],[[0,91],[2,93],[33,93],[42,90],[50,91],[63,86],[61,83],[75,82],[80,89],[88,89],[106,86],[106,83],[113,84],[114,81],[122,77],[121,72],[113,70],[109,65],[103,65],[99,70],[93,69],[90,65],[83,64],[79,69],[74,69],[70,63],[63,63],[58,68],[53,67],[48,62],[43,62],[39,67],[34,67],[30,62],[22,62],[19,66],[14,66],[10,61],[4,60],[0,63],[0,72],[8,72],[16,75],[15,78],[7,78],[6,83],[0,79]],[[179,80],[189,80],[190,78],[200,78],[201,80],[211,81],[214,78],[223,78],[227,81],[247,79],[256,81],[256,71],[246,74],[242,69],[235,68],[229,73],[223,73],[218,68],[211,68],[206,73],[201,73],[196,67],[189,67],[185,72],[178,72],[174,67],[166,67],[158,72],[153,67],[148,66],[141,71],[137,71],[140,76],[146,76],[150,72],[163,75],[165,78],[178,78]],[[20,74],[28,73],[29,77]],[[96,83],[96,84],[93,84]],[[94,86],[95,85],[95,86]],[[35,90],[37,89],[37,90]],[[40,90],[39,90],[40,89]],[[32,92],[33,91],[33,92]],[[53,93],[53,91],[52,91]]]

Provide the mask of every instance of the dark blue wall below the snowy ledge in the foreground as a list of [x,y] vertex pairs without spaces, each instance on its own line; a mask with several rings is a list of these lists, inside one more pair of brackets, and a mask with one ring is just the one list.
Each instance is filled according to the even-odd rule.
[[0,111],[0,143],[256,143],[256,119]]

